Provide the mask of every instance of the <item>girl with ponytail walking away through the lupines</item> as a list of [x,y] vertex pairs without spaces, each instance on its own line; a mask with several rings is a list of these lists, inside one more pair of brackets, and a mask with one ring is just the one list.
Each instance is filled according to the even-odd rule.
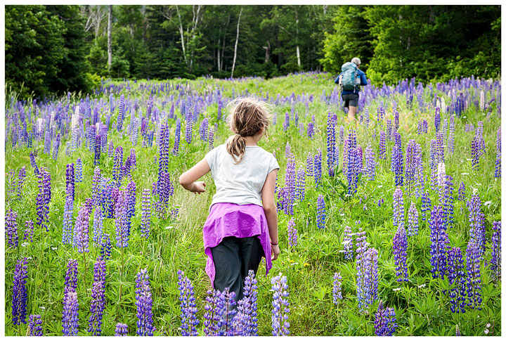
[[274,187],[278,161],[257,146],[271,121],[266,105],[242,98],[229,116],[231,131],[225,144],[179,176],[179,183],[193,193],[205,192],[204,181],[211,171],[216,194],[204,224],[206,272],[216,290],[229,288],[236,302],[249,270],[257,273],[266,257],[266,274],[278,258],[278,213]]

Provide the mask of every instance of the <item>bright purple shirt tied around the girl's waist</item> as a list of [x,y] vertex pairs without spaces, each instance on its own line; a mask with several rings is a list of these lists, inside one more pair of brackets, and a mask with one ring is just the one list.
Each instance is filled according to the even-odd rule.
[[214,288],[214,262],[211,247],[215,247],[225,237],[246,238],[258,236],[266,257],[266,275],[272,267],[271,243],[269,243],[267,218],[264,207],[230,202],[216,202],[212,205],[203,228],[204,249],[207,255],[206,273]]

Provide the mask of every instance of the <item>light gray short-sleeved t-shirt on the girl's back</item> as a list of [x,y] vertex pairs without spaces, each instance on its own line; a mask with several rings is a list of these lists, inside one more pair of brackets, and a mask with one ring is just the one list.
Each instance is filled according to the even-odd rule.
[[274,155],[260,146],[246,146],[245,154],[238,165],[234,164],[225,144],[211,150],[205,155],[205,159],[216,185],[211,206],[216,202],[261,206],[261,190],[264,188],[267,174],[280,168]]

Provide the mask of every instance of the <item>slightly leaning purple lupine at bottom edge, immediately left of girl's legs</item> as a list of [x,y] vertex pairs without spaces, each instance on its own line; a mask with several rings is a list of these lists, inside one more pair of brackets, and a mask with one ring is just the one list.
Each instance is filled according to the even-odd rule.
[[197,305],[195,304],[195,293],[190,278],[184,272],[178,270],[179,285],[179,307],[181,307],[181,334],[183,336],[197,336]]

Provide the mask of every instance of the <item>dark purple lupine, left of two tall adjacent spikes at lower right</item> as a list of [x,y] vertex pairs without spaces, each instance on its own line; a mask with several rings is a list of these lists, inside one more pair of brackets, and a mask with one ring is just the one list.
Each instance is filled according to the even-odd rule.
[[[465,313],[465,272],[464,260],[460,247],[450,247],[448,250],[448,285],[455,284],[455,288],[448,291],[450,310]],[[464,293],[464,295],[461,295]]]

